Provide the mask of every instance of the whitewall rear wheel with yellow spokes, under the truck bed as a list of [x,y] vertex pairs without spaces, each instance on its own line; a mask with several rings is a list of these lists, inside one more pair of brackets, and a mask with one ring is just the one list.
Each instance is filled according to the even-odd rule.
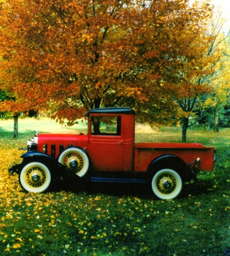
[[160,199],[173,199],[182,189],[182,180],[176,171],[162,169],[153,176],[151,188]]

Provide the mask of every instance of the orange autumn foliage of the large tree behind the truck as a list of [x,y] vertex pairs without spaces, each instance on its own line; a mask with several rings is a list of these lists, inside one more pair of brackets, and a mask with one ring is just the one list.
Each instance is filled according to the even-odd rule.
[[17,101],[73,124],[89,108],[131,106],[168,123],[178,101],[206,90],[211,7],[188,0],[8,0],[0,10],[0,79]]

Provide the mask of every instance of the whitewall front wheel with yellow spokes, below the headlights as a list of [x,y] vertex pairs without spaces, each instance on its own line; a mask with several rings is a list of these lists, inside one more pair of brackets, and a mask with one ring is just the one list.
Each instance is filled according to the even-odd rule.
[[51,183],[50,170],[40,162],[27,163],[19,174],[19,183],[28,192],[44,192]]

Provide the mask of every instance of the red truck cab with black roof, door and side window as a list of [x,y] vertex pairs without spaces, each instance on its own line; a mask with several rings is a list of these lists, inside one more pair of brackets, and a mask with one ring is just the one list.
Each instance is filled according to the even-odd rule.
[[87,115],[88,154],[98,171],[134,169],[134,110],[130,108],[93,109]]

